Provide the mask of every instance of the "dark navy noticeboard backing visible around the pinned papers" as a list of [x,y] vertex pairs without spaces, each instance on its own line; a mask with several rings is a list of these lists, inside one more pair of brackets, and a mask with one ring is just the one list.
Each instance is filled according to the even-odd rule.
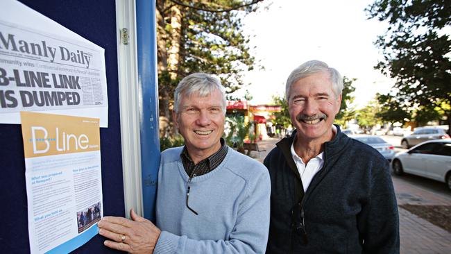
[[[100,130],[103,214],[124,217],[115,3],[110,0],[21,2],[105,49],[109,124],[108,128]],[[0,124],[0,141],[0,203],[3,206],[0,219],[0,253],[29,253],[21,126]],[[103,246],[103,240],[103,237],[96,235],[74,253],[119,253]]]

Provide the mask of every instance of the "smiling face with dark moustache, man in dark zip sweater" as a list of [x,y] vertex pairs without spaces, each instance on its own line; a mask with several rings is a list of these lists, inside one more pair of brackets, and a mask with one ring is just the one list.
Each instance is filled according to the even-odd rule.
[[329,74],[318,72],[300,78],[289,94],[291,122],[298,140],[327,142],[332,139],[332,123],[340,110],[341,94],[336,98]]

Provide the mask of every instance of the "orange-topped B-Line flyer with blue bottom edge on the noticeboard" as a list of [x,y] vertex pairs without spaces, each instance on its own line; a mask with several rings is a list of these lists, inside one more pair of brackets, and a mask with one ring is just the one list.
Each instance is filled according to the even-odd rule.
[[21,112],[31,253],[69,253],[103,217],[99,119]]

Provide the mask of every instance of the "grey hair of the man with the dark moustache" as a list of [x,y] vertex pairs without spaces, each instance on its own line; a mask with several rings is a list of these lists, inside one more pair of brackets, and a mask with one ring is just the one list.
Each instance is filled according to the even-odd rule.
[[332,90],[334,91],[335,98],[338,98],[341,91],[343,91],[343,77],[341,74],[337,69],[329,67],[325,62],[311,60],[304,62],[302,65],[291,71],[291,74],[287,79],[287,85],[285,86],[285,98],[287,99],[287,103],[289,103],[291,85],[301,78],[306,78],[307,76],[318,72],[329,74],[330,81],[332,81]]

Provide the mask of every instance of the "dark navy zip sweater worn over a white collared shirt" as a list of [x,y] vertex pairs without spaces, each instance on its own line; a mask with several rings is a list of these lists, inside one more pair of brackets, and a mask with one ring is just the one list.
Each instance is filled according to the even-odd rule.
[[[337,126],[324,145],[323,168],[304,193],[290,153],[295,135],[278,142],[264,160],[271,177],[266,253],[399,253],[398,206],[384,157]],[[291,226],[298,201],[307,243]]]

